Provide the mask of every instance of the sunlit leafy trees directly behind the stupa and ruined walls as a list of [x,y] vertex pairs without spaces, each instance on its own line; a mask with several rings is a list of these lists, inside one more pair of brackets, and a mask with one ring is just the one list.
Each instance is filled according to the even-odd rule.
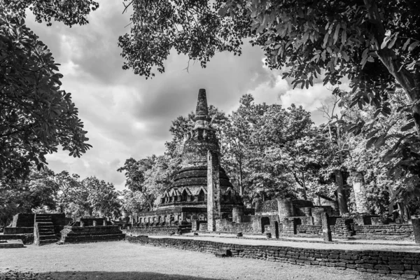
[[[344,204],[340,210],[345,213],[354,209],[350,172],[359,171],[365,177],[372,214],[386,214],[395,202],[407,204],[410,198],[414,205],[409,185],[390,174],[397,159],[384,161],[398,139],[374,144],[349,131],[350,123],[372,121],[376,109],[366,106],[360,111],[342,96],[332,95],[330,102],[318,108],[326,120],[318,126],[302,106],[255,104],[251,94],[242,96],[231,114],[209,106],[211,125],[221,144],[222,166],[246,204],[276,197],[317,201],[326,196]],[[390,102],[395,109],[404,106],[402,91],[391,96]],[[404,125],[404,113],[392,112],[375,117],[379,133],[397,133]],[[132,212],[153,209],[159,195],[170,188],[181,168],[183,135],[193,129],[193,120],[191,112],[172,121],[172,139],[167,141],[164,155],[130,158],[118,169],[127,179],[125,195],[137,197],[139,202]]]

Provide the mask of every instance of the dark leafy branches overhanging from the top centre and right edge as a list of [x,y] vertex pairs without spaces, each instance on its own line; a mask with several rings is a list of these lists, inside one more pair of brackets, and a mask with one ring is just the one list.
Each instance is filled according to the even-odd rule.
[[[351,81],[351,105],[374,105],[374,118],[389,116],[388,95],[402,88],[409,118],[400,141],[389,155],[399,158],[392,172],[419,185],[420,162],[420,3],[411,0],[228,0],[144,1],[133,5],[130,34],[119,39],[126,62],[123,69],[146,77],[174,48],[203,67],[216,52],[241,54],[241,43],[250,38],[265,51],[271,69],[286,66],[283,78],[296,87],[309,87],[325,71],[324,85]],[[334,94],[341,94],[335,90]],[[362,132],[365,123],[353,124]],[[348,129],[350,129],[349,127]],[[406,129],[415,127],[415,132]],[[370,134],[383,143],[388,134]],[[409,156],[407,156],[409,155]]]

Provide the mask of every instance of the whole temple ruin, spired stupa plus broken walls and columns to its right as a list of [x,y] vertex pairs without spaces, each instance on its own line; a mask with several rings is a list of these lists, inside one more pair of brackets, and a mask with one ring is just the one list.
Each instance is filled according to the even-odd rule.
[[271,200],[244,208],[221,167],[216,131],[211,127],[205,90],[200,90],[195,127],[185,136],[182,169],[160,197],[155,211],[137,214],[130,235],[224,232],[241,235],[290,235],[356,239],[413,239],[412,225],[369,214],[363,174],[353,172],[354,214],[339,213],[336,200]]

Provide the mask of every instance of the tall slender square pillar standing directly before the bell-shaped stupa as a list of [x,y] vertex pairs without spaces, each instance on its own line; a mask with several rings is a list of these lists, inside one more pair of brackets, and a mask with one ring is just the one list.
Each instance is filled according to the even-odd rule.
[[216,231],[216,219],[221,217],[221,182],[219,156],[207,151],[207,230]]

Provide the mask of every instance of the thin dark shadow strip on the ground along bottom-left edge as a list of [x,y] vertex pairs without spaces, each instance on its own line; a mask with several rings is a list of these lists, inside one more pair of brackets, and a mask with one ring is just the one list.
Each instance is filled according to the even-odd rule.
[[0,280],[214,280],[187,275],[162,274],[154,272],[18,272],[0,273]]

